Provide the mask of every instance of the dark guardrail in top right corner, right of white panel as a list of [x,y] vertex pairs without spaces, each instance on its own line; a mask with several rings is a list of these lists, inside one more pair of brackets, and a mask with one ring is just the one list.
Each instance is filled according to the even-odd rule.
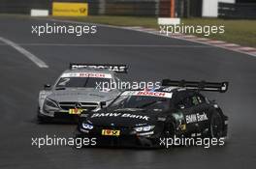
[[218,4],[218,16],[221,18],[255,19],[256,4]]

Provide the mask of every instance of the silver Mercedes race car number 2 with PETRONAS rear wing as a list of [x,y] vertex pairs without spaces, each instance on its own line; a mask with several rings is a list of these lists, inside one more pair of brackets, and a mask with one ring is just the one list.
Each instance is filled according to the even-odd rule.
[[45,85],[39,93],[38,120],[78,119],[80,112],[107,104],[120,94],[119,89],[104,88],[101,84],[112,84],[119,78],[115,72],[127,72],[125,65],[71,64],[55,81]]

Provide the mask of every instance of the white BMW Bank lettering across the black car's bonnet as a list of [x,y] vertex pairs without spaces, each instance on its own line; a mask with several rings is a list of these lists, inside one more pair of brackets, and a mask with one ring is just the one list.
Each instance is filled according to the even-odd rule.
[[94,113],[91,115],[91,118],[100,118],[100,117],[121,117],[121,118],[131,118],[131,119],[142,119],[148,121],[148,116],[134,115],[129,113]]

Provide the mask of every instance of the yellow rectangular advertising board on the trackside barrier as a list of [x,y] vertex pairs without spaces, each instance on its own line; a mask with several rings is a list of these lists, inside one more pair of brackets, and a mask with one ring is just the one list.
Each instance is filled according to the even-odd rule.
[[61,16],[86,16],[88,15],[87,3],[52,3],[52,15]]

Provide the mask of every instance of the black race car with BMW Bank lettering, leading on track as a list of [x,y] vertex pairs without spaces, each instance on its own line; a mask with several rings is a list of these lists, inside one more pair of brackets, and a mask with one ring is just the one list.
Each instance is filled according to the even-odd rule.
[[225,138],[228,117],[201,91],[224,93],[228,82],[172,81],[155,90],[128,90],[108,107],[84,112],[77,138],[96,138],[98,146],[159,147],[165,138]]

